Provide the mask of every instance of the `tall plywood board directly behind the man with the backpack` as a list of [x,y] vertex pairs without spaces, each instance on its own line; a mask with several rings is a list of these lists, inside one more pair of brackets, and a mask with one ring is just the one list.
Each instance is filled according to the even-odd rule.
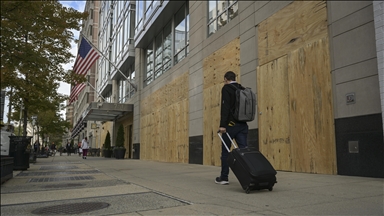
[[224,74],[233,71],[240,81],[240,39],[236,38],[212,53],[203,62],[203,164],[221,165],[220,124],[221,88]]

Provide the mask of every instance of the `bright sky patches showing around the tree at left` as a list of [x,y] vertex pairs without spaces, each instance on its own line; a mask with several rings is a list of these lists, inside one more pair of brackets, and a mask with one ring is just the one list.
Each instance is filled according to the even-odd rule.
[[[60,0],[59,1],[63,6],[65,7],[72,7],[80,12],[84,12],[84,8],[85,8],[85,2],[86,1],[63,1],[63,0]],[[78,39],[79,38],[79,32],[78,31],[74,31],[74,37],[75,39]],[[73,54],[73,56],[76,56],[77,55],[77,44],[72,42],[71,43],[72,45],[72,48],[71,48],[71,53]],[[66,64],[66,65],[63,65],[63,68],[65,70],[69,70],[69,69],[72,69],[73,65],[75,64],[75,61],[74,61],[75,58],[73,58],[73,61],[69,64]],[[58,89],[58,92],[61,93],[61,94],[65,94],[65,95],[69,95],[70,94],[70,84],[68,83],[64,83],[64,82],[60,82],[60,87]],[[8,114],[8,104],[9,104],[9,100],[8,100],[8,97],[5,98],[5,104],[4,104],[4,116],[3,116],[3,122],[7,122],[8,121],[8,118],[7,118],[7,114]],[[61,111],[60,112],[62,117],[65,118],[65,110]]]

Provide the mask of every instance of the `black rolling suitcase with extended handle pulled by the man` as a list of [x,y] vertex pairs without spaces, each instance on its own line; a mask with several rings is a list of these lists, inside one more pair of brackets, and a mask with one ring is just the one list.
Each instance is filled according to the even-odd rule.
[[273,186],[277,183],[277,172],[271,163],[254,147],[237,148],[229,134],[226,134],[235,147],[232,151],[225,145],[223,138],[218,133],[223,145],[229,152],[228,165],[245,192],[248,194],[251,190],[261,189],[272,191]]

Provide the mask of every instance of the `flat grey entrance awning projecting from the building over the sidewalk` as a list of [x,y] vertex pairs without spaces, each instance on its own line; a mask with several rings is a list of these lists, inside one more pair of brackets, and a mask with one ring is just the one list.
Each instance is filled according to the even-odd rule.
[[113,121],[133,112],[133,104],[91,102],[83,113],[84,121]]

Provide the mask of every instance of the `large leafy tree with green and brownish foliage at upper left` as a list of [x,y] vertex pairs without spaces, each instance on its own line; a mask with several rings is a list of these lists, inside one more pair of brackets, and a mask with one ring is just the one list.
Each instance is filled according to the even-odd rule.
[[13,89],[10,106],[24,107],[24,133],[28,111],[57,113],[57,104],[68,99],[57,92],[60,81],[84,81],[62,65],[73,57],[71,29],[79,30],[87,15],[57,0],[1,1],[1,86]]

